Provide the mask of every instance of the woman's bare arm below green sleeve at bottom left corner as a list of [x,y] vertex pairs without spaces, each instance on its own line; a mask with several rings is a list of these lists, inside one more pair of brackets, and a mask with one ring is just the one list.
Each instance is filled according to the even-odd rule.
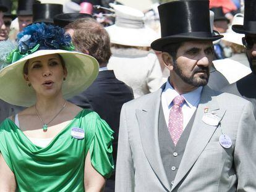
[[4,158],[0,152],[0,191],[1,192],[11,192],[15,191],[16,182],[15,176],[12,170],[8,167]]

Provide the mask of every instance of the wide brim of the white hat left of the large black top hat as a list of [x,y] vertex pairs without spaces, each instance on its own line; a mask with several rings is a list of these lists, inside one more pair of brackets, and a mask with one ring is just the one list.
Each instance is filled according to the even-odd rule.
[[150,47],[150,43],[158,38],[157,33],[148,27],[126,28],[111,25],[105,28],[111,43],[126,46]]

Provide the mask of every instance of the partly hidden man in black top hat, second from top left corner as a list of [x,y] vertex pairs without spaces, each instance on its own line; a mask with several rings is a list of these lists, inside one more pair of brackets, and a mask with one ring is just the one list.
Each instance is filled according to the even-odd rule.
[[19,30],[22,31],[23,28],[27,27],[33,22],[33,4],[40,3],[36,0],[19,0],[17,15],[19,20]]

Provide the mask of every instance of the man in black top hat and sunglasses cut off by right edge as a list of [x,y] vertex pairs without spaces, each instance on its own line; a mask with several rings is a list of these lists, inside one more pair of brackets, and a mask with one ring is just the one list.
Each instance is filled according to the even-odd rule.
[[245,34],[242,42],[246,48],[246,56],[252,73],[241,78],[241,80],[223,88],[223,91],[241,96],[252,102],[256,118],[256,1],[245,0],[244,25],[233,25],[236,33]]

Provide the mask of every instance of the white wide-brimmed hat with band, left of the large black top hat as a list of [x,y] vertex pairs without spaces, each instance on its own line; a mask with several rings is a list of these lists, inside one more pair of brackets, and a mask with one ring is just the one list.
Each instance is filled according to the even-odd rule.
[[158,38],[157,33],[144,25],[144,14],[132,7],[113,5],[116,23],[106,27],[111,43],[126,46],[150,47],[152,41]]

